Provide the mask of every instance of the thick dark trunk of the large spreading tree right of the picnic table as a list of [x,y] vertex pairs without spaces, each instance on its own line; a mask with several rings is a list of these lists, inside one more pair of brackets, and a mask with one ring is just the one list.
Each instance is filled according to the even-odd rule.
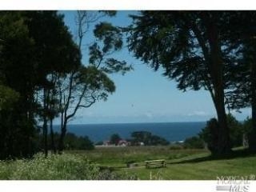
[[218,13],[208,13],[205,15],[207,34],[210,45],[209,71],[214,86],[214,106],[218,116],[218,124],[216,131],[218,138],[216,141],[216,154],[230,153],[230,133],[226,122],[226,110],[224,102],[224,82],[223,82],[223,62],[221,54],[221,45],[218,34]]

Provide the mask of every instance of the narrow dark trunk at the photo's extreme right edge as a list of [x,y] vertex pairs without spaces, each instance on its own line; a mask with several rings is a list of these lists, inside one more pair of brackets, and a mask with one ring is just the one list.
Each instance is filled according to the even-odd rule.
[[252,130],[250,131],[248,142],[249,150],[256,152],[256,66],[253,63],[251,66],[251,118]]

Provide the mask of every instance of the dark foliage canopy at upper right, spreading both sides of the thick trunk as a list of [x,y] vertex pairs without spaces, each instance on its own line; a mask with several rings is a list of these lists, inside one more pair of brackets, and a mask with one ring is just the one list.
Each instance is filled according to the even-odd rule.
[[[154,70],[162,66],[163,75],[178,82],[178,89],[183,91],[215,89],[214,78],[217,77],[209,65],[216,62],[211,58],[216,53],[210,49],[215,43],[222,54],[221,65],[225,70],[215,75],[223,76],[224,89],[228,89],[230,80],[234,80],[230,76],[237,77],[234,74],[240,72],[234,62],[241,62],[241,38],[254,34],[250,25],[254,23],[255,14],[249,11],[142,10],[130,17],[133,24],[127,28],[129,49]],[[215,27],[218,30],[213,31]],[[217,35],[219,42],[210,39],[211,35]]]

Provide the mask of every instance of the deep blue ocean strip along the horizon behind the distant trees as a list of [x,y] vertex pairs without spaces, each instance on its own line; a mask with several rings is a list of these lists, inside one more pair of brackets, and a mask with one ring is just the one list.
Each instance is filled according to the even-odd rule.
[[[134,131],[149,131],[170,142],[184,141],[186,138],[197,135],[206,122],[155,122],[155,123],[115,123],[115,124],[79,124],[68,125],[67,132],[78,136],[88,136],[93,142],[106,141],[111,134],[119,134],[121,138],[130,138]],[[60,130],[60,126],[54,126]]]

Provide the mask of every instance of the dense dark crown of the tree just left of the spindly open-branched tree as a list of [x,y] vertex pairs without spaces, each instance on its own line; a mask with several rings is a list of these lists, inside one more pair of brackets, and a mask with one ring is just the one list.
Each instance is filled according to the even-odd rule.
[[30,18],[26,25],[34,39],[38,82],[49,86],[47,75],[54,72],[66,74],[78,69],[81,53],[64,23],[64,16],[57,11],[26,11],[24,15]]

